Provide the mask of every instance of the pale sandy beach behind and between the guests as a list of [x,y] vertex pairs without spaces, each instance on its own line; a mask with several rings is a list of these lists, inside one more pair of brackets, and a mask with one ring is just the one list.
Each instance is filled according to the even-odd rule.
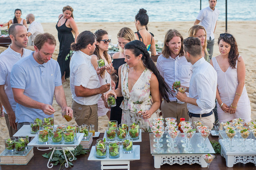
[[[169,29],[177,29],[184,38],[188,37],[188,30],[193,25],[194,21],[173,21],[173,22],[150,22],[148,26],[148,31],[152,32],[155,36],[155,41],[157,43],[158,40],[164,41],[164,35]],[[44,32],[49,32],[53,34],[57,40],[57,46],[55,52],[53,54],[53,59],[57,60],[58,52],[59,52],[59,42],[57,36],[57,30],[55,28],[56,23],[42,23]],[[130,27],[133,31],[136,31],[134,22],[111,22],[111,23],[103,23],[103,22],[95,22],[95,23],[77,23],[79,32],[89,30],[95,32],[97,29],[105,29],[111,35],[112,42],[117,44],[116,34],[122,27]],[[7,29],[3,27],[2,29]],[[225,22],[218,21],[217,27],[215,30],[215,46],[213,51],[213,56],[219,55],[219,49],[217,46],[217,38],[221,33],[225,32]],[[252,120],[256,119],[256,21],[230,21],[228,22],[228,32],[232,34],[238,43],[238,49],[240,55],[244,58],[245,66],[246,66],[246,77],[245,77],[245,86],[247,89],[247,93],[251,102],[251,118]],[[6,50],[5,47],[0,47],[0,53]],[[66,82],[63,83],[63,88],[65,90],[65,95],[67,99],[68,106],[71,106],[71,92],[70,92],[70,82],[67,79]],[[56,110],[61,110],[60,106],[58,106],[56,100],[53,101],[53,107]],[[107,116],[99,117],[99,132],[104,132],[107,127]],[[72,121],[67,122],[64,118],[62,118],[61,114],[54,114],[54,124],[66,123],[68,125],[76,124],[74,119]],[[0,119],[1,131],[0,131],[0,152],[2,152],[5,148],[4,139],[9,137],[8,129],[5,124],[5,119]]]

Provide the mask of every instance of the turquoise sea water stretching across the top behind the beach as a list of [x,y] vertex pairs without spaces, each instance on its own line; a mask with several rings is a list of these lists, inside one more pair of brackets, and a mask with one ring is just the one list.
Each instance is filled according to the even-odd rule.
[[[36,21],[57,22],[66,5],[74,9],[76,22],[134,21],[140,8],[147,10],[149,21],[194,21],[200,10],[200,0],[0,0],[0,21],[14,17],[14,10],[22,10],[22,18],[33,13]],[[209,6],[202,0],[202,8]],[[218,0],[219,20],[225,21],[225,0]],[[228,0],[228,21],[256,20],[256,0]]]

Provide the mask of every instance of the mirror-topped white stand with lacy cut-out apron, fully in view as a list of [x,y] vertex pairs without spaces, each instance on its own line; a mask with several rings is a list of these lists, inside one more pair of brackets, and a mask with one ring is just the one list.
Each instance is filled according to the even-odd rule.
[[169,153],[168,152],[168,146],[167,146],[167,142],[166,142],[166,133],[163,135],[163,142],[161,142],[163,144],[162,149],[164,149],[163,153],[156,153],[154,152],[154,146],[153,144],[155,143],[154,140],[154,134],[150,133],[150,151],[152,156],[154,156],[154,167],[155,168],[160,168],[161,165],[163,164],[169,164],[169,165],[173,165],[173,164],[199,164],[201,165],[202,168],[206,168],[207,167],[207,163],[205,162],[205,160],[203,159],[203,154],[206,153],[211,153],[211,154],[215,154],[215,151],[209,141],[209,139],[207,138],[205,141],[205,144],[207,145],[207,148],[210,149],[209,152],[201,152],[199,151],[199,147],[197,146],[198,143],[201,143],[202,140],[202,136],[199,133],[195,133],[195,135],[191,138],[190,144],[192,145],[192,148],[194,149],[193,152],[187,152],[184,151],[184,147],[182,147],[182,143],[181,143],[181,139],[184,139],[184,133],[180,133],[177,138],[175,139],[177,143],[177,149],[178,152],[177,153]]

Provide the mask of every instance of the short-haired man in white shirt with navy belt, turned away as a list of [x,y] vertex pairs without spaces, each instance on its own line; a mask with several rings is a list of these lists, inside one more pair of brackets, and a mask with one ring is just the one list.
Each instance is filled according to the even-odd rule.
[[189,121],[202,121],[211,130],[215,121],[212,109],[215,107],[217,72],[202,57],[198,38],[189,37],[183,43],[184,56],[193,65],[193,74],[187,87],[189,97],[180,92],[176,96],[180,101],[188,102]]

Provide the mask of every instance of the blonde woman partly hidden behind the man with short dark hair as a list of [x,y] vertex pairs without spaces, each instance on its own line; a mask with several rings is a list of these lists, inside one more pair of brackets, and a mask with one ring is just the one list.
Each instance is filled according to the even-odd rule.
[[207,33],[205,28],[201,25],[193,25],[188,31],[189,37],[197,37],[201,41],[202,46],[202,56],[205,58],[207,62],[210,63],[209,54],[207,51]]

